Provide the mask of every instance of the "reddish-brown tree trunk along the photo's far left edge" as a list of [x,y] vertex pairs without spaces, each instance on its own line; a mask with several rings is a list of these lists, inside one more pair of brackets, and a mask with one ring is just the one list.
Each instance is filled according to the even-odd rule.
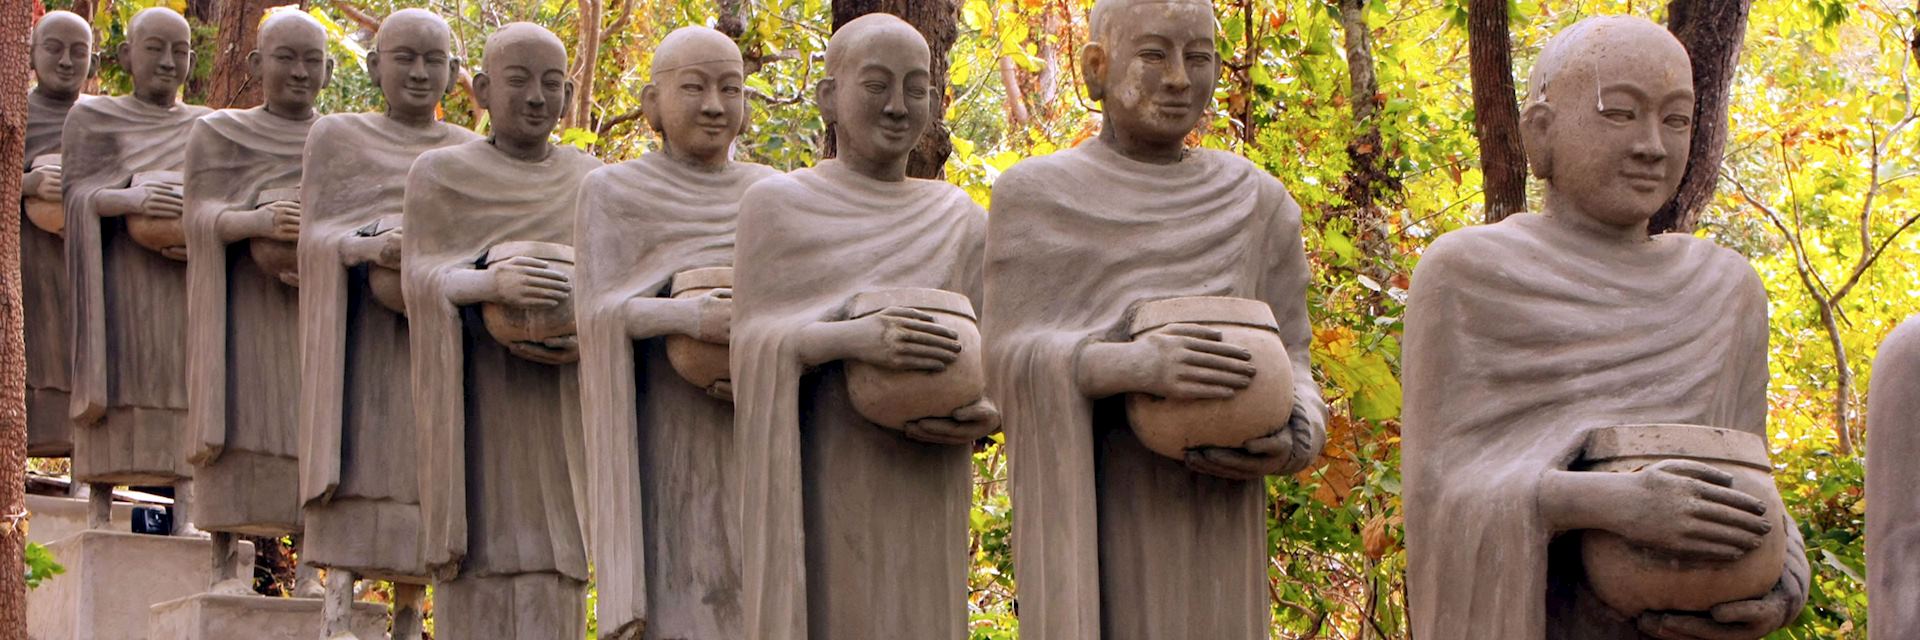
[[[0,4],[0,202],[19,206],[27,165],[33,4]],[[0,215],[0,638],[27,636],[27,336],[21,332],[19,215]]]

